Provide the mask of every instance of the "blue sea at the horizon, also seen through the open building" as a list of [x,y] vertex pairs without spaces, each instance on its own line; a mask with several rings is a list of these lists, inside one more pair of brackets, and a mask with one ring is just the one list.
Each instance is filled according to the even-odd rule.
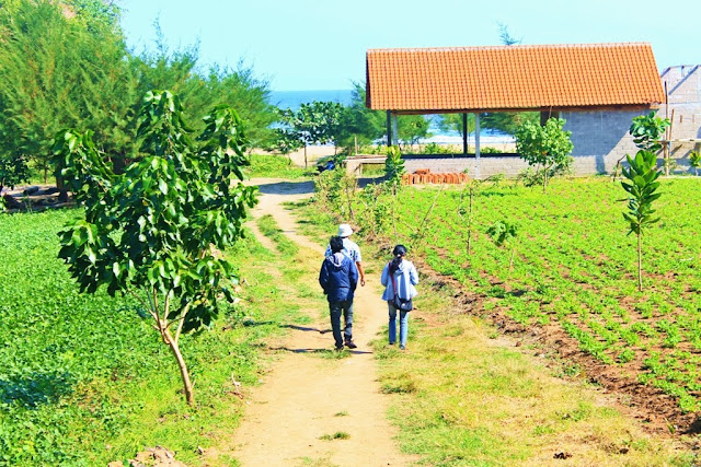
[[[337,102],[348,105],[353,100],[353,90],[307,90],[307,91],[271,91],[271,102],[280,108],[299,109],[301,104],[319,102]],[[429,117],[429,116],[426,116]],[[437,144],[462,144],[462,137],[456,131],[441,131],[432,122],[428,131],[430,138],[421,141],[422,143],[435,142]],[[489,129],[480,131],[480,140],[484,143],[513,143],[514,137],[510,135],[494,132]],[[470,135],[469,142],[474,143],[474,135]]]

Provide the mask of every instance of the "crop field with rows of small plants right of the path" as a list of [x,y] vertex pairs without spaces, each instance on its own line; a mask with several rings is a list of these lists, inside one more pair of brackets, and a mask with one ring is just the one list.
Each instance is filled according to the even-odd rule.
[[[480,313],[502,329],[531,329],[559,342],[553,348],[573,358],[577,372],[630,392],[670,430],[685,430],[701,408],[701,183],[663,179],[660,190],[662,220],[643,240],[643,292],[635,236],[627,235],[621,214],[627,194],[608,177],[556,179],[547,194],[513,182],[482,184],[473,198],[470,254],[468,190],[406,187],[393,205],[397,241],[481,295]],[[390,197],[374,205],[360,194],[352,205],[365,233],[395,241]],[[388,219],[374,221],[378,212]],[[516,225],[516,237],[503,247],[486,234],[498,221]]]

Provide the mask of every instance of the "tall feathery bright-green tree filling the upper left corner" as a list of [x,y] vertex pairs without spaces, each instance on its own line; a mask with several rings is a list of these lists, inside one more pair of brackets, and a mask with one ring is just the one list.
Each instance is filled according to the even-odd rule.
[[80,17],[46,0],[0,8],[0,152],[33,157],[45,177],[53,136],[79,121],[108,157],[133,148],[125,115],[137,94],[123,38]]

